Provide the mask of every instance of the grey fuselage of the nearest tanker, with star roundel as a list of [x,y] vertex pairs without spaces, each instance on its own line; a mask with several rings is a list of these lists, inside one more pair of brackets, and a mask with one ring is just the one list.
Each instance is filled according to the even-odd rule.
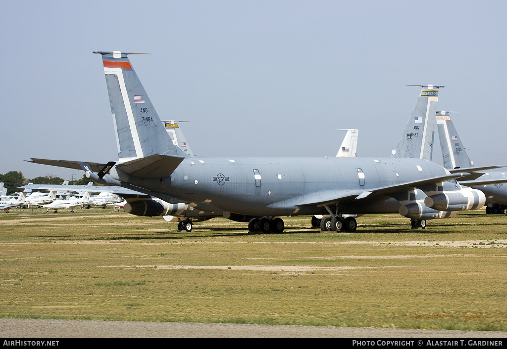
[[[197,209],[206,210],[209,203],[239,214],[285,216],[327,214],[321,203],[347,192],[447,173],[432,162],[403,158],[186,158],[170,177],[129,182],[182,198]],[[344,214],[397,213],[401,206],[385,195],[340,205]]]

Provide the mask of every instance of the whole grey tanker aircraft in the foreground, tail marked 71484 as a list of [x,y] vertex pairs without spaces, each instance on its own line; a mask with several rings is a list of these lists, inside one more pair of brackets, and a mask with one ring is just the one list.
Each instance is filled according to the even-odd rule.
[[[344,216],[370,213],[399,212],[425,225],[485,202],[481,191],[455,180],[466,173],[420,159],[189,157],[172,144],[129,53],[94,53],[102,57],[117,134],[119,160],[108,173],[122,186],[197,209],[212,205],[231,218],[248,216],[249,226],[262,232],[283,231],[281,216],[314,214],[330,215],[323,230],[355,231],[355,218]],[[438,88],[423,95],[430,100]],[[430,207],[421,205],[418,192],[432,199]]]

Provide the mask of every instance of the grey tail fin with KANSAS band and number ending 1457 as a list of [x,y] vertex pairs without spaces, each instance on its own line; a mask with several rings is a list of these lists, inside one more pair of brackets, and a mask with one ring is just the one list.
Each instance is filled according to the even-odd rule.
[[414,110],[412,110],[400,142],[396,146],[396,149],[391,152],[391,158],[431,160],[439,88],[444,86],[409,86],[420,86],[422,87],[422,91],[417,99]]

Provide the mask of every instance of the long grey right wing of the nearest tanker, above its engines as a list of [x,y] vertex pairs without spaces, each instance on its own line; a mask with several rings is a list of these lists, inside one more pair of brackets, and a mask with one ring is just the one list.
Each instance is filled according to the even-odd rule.
[[295,205],[334,205],[339,202],[350,201],[350,200],[361,200],[371,195],[389,195],[399,192],[405,192],[418,187],[430,184],[437,184],[443,181],[468,176],[469,173],[456,173],[445,176],[425,178],[421,180],[415,180],[411,182],[405,182],[400,184],[386,185],[383,187],[365,189],[365,190],[325,190],[305,195],[300,203]]

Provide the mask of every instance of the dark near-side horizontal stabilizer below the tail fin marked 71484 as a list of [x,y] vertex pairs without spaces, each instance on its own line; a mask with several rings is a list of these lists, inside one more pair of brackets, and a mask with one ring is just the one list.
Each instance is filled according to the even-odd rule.
[[128,175],[141,178],[169,177],[183,161],[183,157],[153,154],[116,165],[116,168]]

